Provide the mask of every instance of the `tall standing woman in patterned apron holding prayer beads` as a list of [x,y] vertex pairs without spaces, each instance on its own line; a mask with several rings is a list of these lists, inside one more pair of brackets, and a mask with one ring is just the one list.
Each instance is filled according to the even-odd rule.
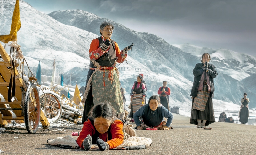
[[84,113],[82,123],[87,120],[93,105],[110,102],[116,114],[123,112],[122,94],[118,78],[116,62],[123,63],[132,45],[120,51],[117,43],[110,39],[114,26],[109,22],[100,25],[101,36],[93,39],[89,49],[90,69],[82,103]]

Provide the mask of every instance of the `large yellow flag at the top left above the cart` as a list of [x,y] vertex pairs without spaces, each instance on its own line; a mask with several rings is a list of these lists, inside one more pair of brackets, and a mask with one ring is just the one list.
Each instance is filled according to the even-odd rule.
[[21,22],[20,22],[19,0],[16,0],[16,4],[12,14],[12,24],[11,24],[10,34],[1,35],[0,41],[4,43],[8,43],[9,41],[17,41],[17,31],[20,30],[20,27],[21,27]]

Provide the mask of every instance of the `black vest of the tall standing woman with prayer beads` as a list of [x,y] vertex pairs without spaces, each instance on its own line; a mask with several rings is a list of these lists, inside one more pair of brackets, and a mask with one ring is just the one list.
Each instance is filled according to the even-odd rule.
[[[98,40],[99,40],[99,46],[98,46],[99,48],[104,43],[104,40],[101,38],[101,36],[98,37]],[[98,62],[100,66],[113,67],[115,60],[116,60],[115,42],[113,39],[111,39],[109,51],[101,55],[100,58],[95,61]],[[92,61],[90,61],[90,67],[95,68]]]

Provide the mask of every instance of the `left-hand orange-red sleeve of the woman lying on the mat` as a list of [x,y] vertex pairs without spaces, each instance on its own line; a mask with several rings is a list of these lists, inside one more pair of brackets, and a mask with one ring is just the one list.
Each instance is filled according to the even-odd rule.
[[88,119],[86,122],[84,122],[84,126],[82,128],[82,131],[79,134],[79,137],[76,140],[76,143],[79,145],[79,147],[83,148],[82,144],[83,144],[84,138],[86,138],[87,135],[92,136],[93,134],[95,134],[95,129],[91,121]]

